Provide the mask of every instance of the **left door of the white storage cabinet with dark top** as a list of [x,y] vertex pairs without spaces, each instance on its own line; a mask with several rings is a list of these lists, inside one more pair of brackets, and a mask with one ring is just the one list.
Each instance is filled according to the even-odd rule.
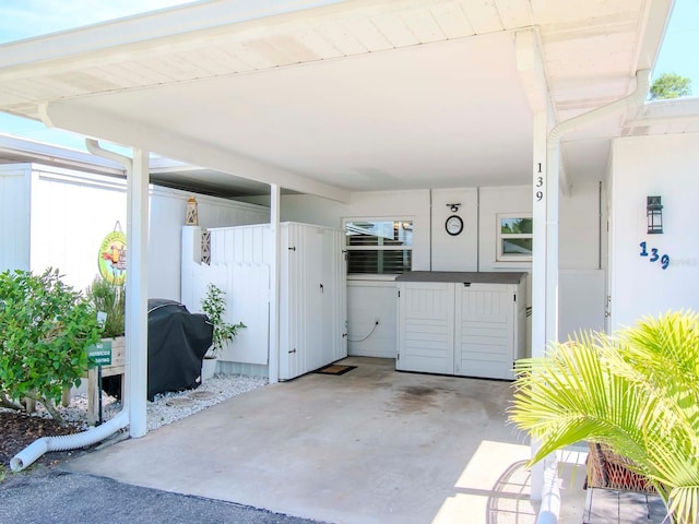
[[399,284],[396,369],[428,373],[454,372],[454,285]]

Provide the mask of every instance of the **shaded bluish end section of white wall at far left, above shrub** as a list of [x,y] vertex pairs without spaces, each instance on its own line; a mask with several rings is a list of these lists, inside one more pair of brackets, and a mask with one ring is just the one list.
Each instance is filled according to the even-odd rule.
[[29,269],[32,169],[0,166],[0,272]]

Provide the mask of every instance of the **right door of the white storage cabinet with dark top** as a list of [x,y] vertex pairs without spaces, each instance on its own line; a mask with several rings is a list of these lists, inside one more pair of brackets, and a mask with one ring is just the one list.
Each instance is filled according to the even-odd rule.
[[454,374],[513,379],[514,286],[455,285]]

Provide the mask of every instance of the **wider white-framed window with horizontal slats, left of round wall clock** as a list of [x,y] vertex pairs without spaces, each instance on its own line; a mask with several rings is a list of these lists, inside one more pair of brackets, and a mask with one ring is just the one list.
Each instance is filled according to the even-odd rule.
[[401,274],[413,264],[413,221],[344,221],[350,274]]

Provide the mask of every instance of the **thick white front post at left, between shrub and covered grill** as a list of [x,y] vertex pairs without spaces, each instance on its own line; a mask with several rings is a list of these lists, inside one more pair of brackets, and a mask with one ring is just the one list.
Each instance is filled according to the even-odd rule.
[[133,150],[133,168],[127,177],[127,311],[126,355],[129,434],[147,431],[147,242],[149,153]]

